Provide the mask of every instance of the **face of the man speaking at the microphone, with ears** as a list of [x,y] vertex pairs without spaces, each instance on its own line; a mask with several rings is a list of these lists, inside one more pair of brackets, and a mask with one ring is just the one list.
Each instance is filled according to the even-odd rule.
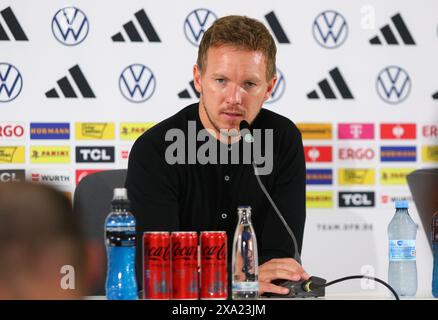
[[239,130],[240,121],[254,121],[270,97],[276,77],[266,80],[266,58],[258,51],[230,46],[208,49],[203,72],[193,68],[200,93],[199,115],[207,129]]

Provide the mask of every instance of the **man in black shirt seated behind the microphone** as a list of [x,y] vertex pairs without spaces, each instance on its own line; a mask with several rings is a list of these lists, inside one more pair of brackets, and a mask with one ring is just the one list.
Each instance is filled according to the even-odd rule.
[[[293,242],[253,168],[242,162],[245,142],[238,131],[246,120],[252,130],[263,132],[255,136],[262,140],[265,156],[260,178],[301,250],[306,215],[301,134],[289,119],[262,109],[277,80],[275,55],[275,42],[262,23],[240,16],[218,19],[205,32],[193,68],[199,103],[160,122],[135,142],[126,186],[137,219],[139,275],[144,231],[225,230],[231,262],[237,207],[249,205],[258,242],[260,293],[287,293],[272,283],[275,279],[309,278],[291,258]],[[216,154],[213,149],[199,152],[212,140],[217,142]],[[231,160],[236,149],[235,155],[242,156],[238,164]]]

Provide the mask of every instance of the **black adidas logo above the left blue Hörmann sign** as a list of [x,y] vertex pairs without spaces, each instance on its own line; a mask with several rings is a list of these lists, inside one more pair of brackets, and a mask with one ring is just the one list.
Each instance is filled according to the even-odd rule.
[[[85,76],[78,65],[68,69],[68,72],[70,73],[73,81],[70,81],[67,76],[65,76],[56,82],[65,98],[77,98],[78,95],[76,93],[78,90],[84,98],[96,98],[93,90],[91,90],[91,87],[88,84],[87,79],[85,79]],[[72,83],[75,84],[76,90],[73,88]],[[46,92],[46,97],[59,98],[60,96],[56,88],[53,88]]]

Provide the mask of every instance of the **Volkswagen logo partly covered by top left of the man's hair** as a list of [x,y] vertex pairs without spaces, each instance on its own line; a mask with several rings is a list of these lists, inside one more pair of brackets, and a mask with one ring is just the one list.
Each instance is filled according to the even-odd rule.
[[194,46],[199,46],[204,32],[215,22],[217,16],[208,9],[196,9],[184,21],[184,34]]

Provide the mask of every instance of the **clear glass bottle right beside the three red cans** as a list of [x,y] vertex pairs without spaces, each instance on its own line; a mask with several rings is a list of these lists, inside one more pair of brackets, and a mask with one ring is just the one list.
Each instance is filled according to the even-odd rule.
[[239,222],[233,239],[232,299],[257,299],[259,266],[257,240],[251,223],[251,207],[237,208]]

